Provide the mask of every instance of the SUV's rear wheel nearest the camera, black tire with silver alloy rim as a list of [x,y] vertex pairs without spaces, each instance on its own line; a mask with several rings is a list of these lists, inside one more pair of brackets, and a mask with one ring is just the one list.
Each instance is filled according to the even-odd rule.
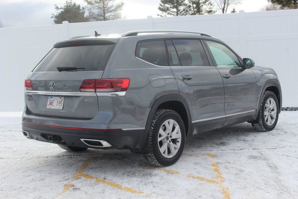
[[182,155],[185,127],[178,113],[168,109],[155,112],[149,129],[150,153],[144,159],[156,166],[170,166]]

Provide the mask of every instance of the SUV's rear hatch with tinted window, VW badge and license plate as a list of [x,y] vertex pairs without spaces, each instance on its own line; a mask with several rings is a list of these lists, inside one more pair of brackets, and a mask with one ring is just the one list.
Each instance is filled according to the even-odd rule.
[[90,84],[82,83],[102,78],[118,40],[81,38],[56,43],[25,80],[27,110],[57,118],[94,118],[97,95],[90,92]]

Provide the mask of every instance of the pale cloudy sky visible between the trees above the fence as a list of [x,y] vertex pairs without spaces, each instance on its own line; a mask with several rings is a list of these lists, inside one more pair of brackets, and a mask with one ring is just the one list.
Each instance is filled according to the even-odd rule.
[[[73,0],[81,6],[86,6],[83,0]],[[157,9],[160,0],[123,0],[125,6],[122,15],[126,19],[158,17]],[[4,27],[35,26],[53,24],[51,18],[55,12],[54,4],[63,6],[65,0],[1,0],[0,20]],[[254,12],[268,4],[267,0],[242,0],[235,6],[237,11]],[[232,9],[232,7],[231,7]]]

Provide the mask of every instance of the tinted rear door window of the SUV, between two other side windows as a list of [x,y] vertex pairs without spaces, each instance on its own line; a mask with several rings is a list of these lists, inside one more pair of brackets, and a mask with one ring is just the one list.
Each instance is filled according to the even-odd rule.
[[175,39],[172,41],[182,66],[210,66],[200,40]]

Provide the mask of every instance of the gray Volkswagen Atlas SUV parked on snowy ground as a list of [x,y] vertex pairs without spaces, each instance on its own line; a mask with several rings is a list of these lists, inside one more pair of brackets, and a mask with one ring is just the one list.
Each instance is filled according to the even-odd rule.
[[22,132],[68,151],[130,149],[169,166],[185,138],[249,122],[274,129],[277,74],[209,35],[171,30],[57,42],[25,80]]

